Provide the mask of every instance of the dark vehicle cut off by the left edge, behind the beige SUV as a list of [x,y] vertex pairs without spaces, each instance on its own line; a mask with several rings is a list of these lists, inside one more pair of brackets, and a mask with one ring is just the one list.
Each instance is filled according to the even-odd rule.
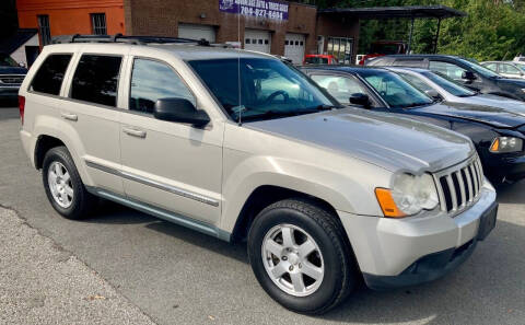
[[0,101],[14,101],[19,95],[19,89],[27,73],[27,69],[21,67],[9,55],[0,54]]

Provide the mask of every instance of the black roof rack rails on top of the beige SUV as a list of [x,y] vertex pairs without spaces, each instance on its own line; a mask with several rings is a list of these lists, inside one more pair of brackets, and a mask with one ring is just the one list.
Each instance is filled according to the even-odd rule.
[[212,46],[206,39],[191,39],[180,37],[164,37],[164,36],[125,36],[122,34],[115,35],[59,35],[52,37],[52,44],[68,44],[68,43],[127,43],[135,45],[148,44],[192,44],[200,46]]

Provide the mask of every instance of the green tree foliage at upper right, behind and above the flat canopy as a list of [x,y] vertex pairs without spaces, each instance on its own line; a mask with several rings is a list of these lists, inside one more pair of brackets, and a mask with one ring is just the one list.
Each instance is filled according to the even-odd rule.
[[[444,4],[466,12],[466,18],[441,23],[438,53],[477,60],[512,59],[525,54],[525,0],[320,0],[322,7],[390,7]],[[359,53],[378,39],[406,40],[409,20],[363,20]],[[413,53],[432,53],[438,20],[416,20]]]

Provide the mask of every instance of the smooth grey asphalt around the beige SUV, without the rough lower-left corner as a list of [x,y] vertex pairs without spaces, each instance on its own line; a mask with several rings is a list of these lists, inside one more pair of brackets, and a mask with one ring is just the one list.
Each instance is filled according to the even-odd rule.
[[28,165],[19,128],[18,109],[0,108],[0,205],[159,324],[525,324],[525,182],[499,189],[497,229],[458,270],[402,290],[361,286],[340,307],[311,317],[264,292],[242,244],[113,204],[86,221],[60,218]]

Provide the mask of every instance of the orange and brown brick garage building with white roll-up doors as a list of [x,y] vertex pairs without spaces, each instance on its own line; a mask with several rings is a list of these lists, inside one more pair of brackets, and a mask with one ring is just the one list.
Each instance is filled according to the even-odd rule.
[[353,61],[359,20],[327,18],[314,5],[282,0],[18,0],[20,26],[40,44],[62,34],[206,38],[283,55],[335,54]]

